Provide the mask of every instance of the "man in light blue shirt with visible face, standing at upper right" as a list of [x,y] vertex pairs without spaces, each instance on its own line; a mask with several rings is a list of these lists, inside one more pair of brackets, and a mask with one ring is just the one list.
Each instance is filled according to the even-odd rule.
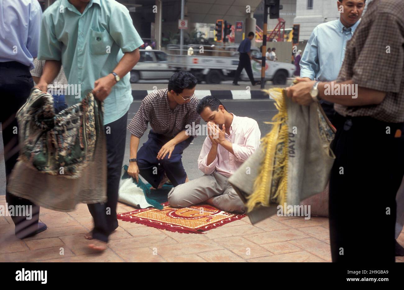
[[[336,80],[345,55],[345,46],[351,39],[362,16],[366,0],[337,1],[340,17],[321,23],[314,28],[300,61],[300,77],[321,82]],[[332,122],[334,104],[320,101]]]

